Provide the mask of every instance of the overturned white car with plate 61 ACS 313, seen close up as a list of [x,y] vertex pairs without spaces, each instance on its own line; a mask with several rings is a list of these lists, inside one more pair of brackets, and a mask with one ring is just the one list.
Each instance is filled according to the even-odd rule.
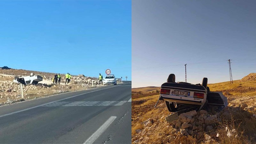
[[176,83],[175,75],[170,74],[167,83],[161,85],[159,100],[165,101],[170,112],[179,112],[185,109],[210,110],[212,108],[215,111],[220,111],[228,106],[228,99],[222,92],[211,92],[207,81],[208,79],[204,77],[202,84]]

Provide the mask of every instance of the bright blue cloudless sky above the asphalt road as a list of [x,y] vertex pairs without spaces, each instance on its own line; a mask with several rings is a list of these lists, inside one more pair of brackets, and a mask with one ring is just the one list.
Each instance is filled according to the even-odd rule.
[[0,67],[131,80],[131,1],[0,1]]

